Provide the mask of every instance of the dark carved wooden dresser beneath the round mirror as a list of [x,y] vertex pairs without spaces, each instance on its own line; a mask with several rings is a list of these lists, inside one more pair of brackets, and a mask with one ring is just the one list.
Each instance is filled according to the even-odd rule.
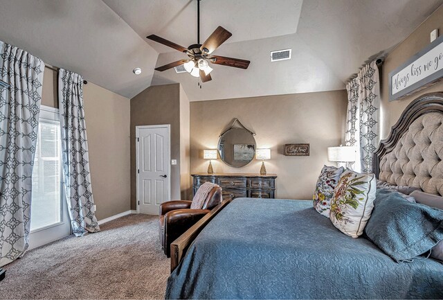
[[221,186],[223,200],[238,197],[274,198],[275,178],[277,175],[268,174],[192,174],[193,191],[199,189],[201,184],[212,182]]

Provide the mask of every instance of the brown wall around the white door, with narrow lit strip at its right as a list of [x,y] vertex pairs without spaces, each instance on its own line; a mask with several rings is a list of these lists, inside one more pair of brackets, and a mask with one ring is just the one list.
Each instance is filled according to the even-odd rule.
[[[186,143],[189,129],[186,130],[189,101],[181,93],[180,85],[157,85],[148,87],[131,99],[131,207],[136,209],[136,126],[138,125],[171,125],[171,159],[177,159],[177,165],[171,166],[171,199],[186,197],[186,182],[181,191],[181,167],[183,174],[189,178],[187,170]],[[187,104],[186,104],[187,103]],[[183,112],[181,112],[183,106]],[[181,126],[182,125],[182,126]],[[183,159],[185,159],[183,161]]]

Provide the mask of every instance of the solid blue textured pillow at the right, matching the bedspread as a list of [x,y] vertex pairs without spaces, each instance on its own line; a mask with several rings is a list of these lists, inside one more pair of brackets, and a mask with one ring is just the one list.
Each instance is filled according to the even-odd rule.
[[397,263],[428,252],[443,240],[443,211],[378,190],[366,236]]

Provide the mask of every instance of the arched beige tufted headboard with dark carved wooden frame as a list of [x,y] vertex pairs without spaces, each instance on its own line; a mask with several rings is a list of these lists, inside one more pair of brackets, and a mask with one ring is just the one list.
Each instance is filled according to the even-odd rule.
[[373,159],[377,178],[443,195],[443,93],[413,100]]

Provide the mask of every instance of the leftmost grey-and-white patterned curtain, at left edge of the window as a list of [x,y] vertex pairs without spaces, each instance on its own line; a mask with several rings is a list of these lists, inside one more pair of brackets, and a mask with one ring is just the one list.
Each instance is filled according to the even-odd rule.
[[0,42],[0,267],[28,249],[44,63]]

